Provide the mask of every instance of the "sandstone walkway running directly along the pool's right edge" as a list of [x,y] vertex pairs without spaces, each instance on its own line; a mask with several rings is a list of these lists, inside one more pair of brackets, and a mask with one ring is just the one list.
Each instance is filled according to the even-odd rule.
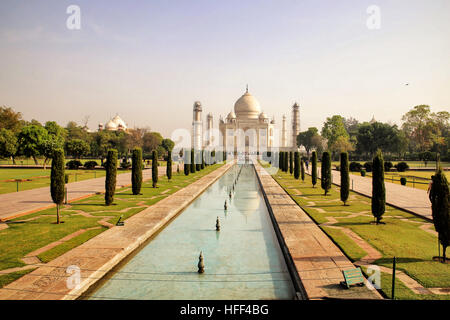
[[308,299],[381,299],[366,286],[339,285],[342,271],[355,266],[259,163],[255,167]]

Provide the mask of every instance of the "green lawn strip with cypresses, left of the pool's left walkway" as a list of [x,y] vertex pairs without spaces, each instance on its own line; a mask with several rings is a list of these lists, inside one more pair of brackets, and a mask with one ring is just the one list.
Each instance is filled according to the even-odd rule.
[[[60,210],[61,220],[64,223],[59,225],[54,224],[56,221],[55,208],[11,220],[8,223],[9,227],[0,231],[0,273],[4,269],[24,266],[25,263],[20,259],[30,252],[58,241],[80,229],[97,227],[38,255],[38,258],[43,262],[51,261],[107,230],[106,227],[99,224],[100,220],[115,224],[121,215],[124,219],[127,219],[220,166],[221,164],[208,166],[204,170],[189,176],[185,176],[183,172],[174,173],[171,181],[168,181],[166,177],[159,177],[158,188],[153,188],[152,181],[149,180],[143,183],[142,195],[133,195],[131,187],[118,189],[114,197],[114,205],[111,206],[104,205],[103,194],[75,201],[65,205]],[[3,284],[7,282],[2,281]]]

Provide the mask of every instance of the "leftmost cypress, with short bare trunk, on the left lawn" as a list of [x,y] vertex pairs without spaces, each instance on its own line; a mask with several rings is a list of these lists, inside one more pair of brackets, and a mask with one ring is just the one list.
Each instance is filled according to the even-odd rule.
[[59,206],[64,201],[64,151],[57,149],[53,152],[52,169],[50,173],[50,194],[52,200],[56,204],[56,223],[59,224]]

